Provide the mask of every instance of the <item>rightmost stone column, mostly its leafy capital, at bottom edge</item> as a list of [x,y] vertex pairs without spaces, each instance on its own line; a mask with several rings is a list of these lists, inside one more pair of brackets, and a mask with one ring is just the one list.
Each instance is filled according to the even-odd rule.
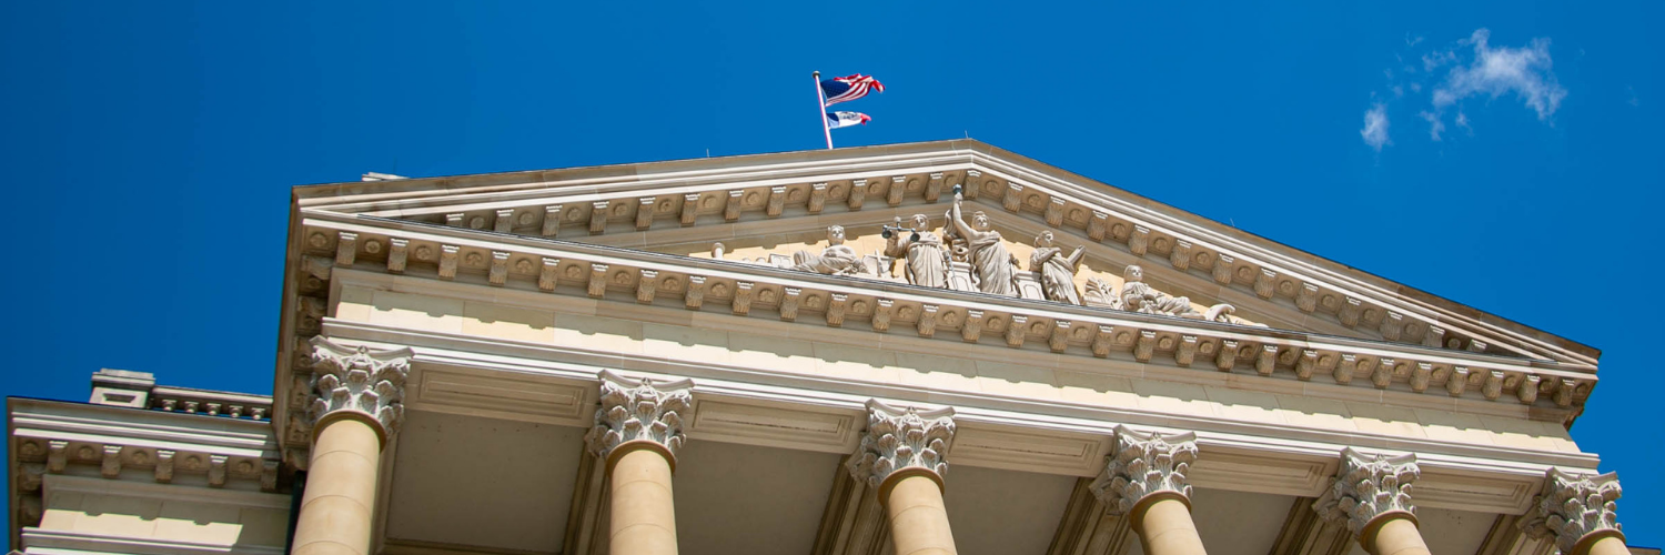
[[1555,537],[1562,555],[1627,555],[1625,533],[1615,513],[1618,473],[1570,473],[1550,468],[1543,495],[1520,520],[1528,537]]

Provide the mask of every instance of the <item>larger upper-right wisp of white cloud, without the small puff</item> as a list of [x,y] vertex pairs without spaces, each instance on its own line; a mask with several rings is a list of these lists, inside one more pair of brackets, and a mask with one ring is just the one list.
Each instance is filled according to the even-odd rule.
[[1434,88],[1434,107],[1444,110],[1475,95],[1497,98],[1515,93],[1538,113],[1538,120],[1548,120],[1567,97],[1567,88],[1560,87],[1552,72],[1548,38],[1533,38],[1522,48],[1492,48],[1487,43],[1490,35],[1480,28],[1464,42],[1474,45],[1474,60],[1454,67],[1445,82]]

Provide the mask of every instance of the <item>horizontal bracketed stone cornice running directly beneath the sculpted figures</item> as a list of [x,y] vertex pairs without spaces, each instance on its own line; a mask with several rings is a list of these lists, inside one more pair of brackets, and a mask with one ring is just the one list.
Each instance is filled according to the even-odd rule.
[[[368,237],[375,242],[400,238],[408,250],[426,252],[430,263],[436,262],[438,253],[453,252],[463,268],[440,273],[403,267],[403,272],[391,272],[386,263],[376,265],[358,260],[368,257],[355,257],[351,272],[438,278],[498,292],[586,298],[618,295],[611,298],[636,303],[681,300],[689,310],[791,320],[798,325],[866,327],[887,335],[914,327],[929,307],[936,307],[931,333],[919,335],[939,342],[971,342],[967,337],[976,337],[972,343],[1034,345],[1076,357],[1131,353],[1141,363],[1162,362],[1170,368],[1166,372],[1227,372],[1320,380],[1347,388],[1375,388],[1384,395],[1512,402],[1535,407],[1543,415],[1563,412],[1558,418],[1568,422],[1597,380],[1587,368],[1545,360],[921,288],[420,222],[316,215],[305,223],[318,235],[353,233],[360,240]],[[316,252],[328,252],[326,247]],[[504,267],[501,280],[491,280],[495,265]],[[320,275],[328,277],[331,272],[336,270],[331,267]],[[643,283],[649,275],[651,282],[646,283],[654,287],[646,288],[644,295]],[[323,278],[318,282],[318,287],[325,283]],[[791,317],[781,313],[788,288],[798,293],[796,308],[786,307],[791,308]],[[847,308],[831,310],[834,295],[841,295],[841,305]],[[323,317],[323,302],[318,302],[313,317]],[[981,320],[972,318],[972,312],[981,313]],[[801,313],[819,313],[821,318]],[[966,322],[981,322],[987,333],[942,333],[962,330]],[[1012,322],[1021,322],[1024,332],[1006,333]],[[1459,377],[1457,382],[1452,377]],[[1543,390],[1550,393],[1538,395]]]

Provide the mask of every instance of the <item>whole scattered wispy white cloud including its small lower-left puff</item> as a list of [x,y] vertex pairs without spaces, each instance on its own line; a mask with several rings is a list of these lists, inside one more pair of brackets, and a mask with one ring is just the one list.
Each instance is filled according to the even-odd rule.
[[[1384,70],[1385,87],[1370,93],[1374,100],[1365,110],[1365,125],[1359,135],[1377,152],[1392,145],[1387,135],[1389,110],[1415,113],[1429,123],[1429,138],[1440,142],[1447,137],[1447,122],[1474,135],[1464,112],[1469,98],[1484,98],[1482,105],[1490,105],[1492,100],[1513,97],[1532,108],[1540,122],[1552,122],[1567,98],[1567,88],[1555,78],[1548,38],[1533,38],[1522,47],[1494,47],[1492,32],[1479,28],[1447,47],[1414,48],[1422,42],[1422,37],[1412,38],[1407,33],[1405,52],[1394,55],[1399,70]],[[1420,68],[1415,60],[1422,62]],[[1633,95],[1635,92],[1632,98]],[[1450,118],[1452,112],[1455,118]]]

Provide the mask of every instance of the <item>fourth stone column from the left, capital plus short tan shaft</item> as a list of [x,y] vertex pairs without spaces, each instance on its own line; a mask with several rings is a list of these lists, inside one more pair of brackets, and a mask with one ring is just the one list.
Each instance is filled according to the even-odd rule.
[[1197,435],[1116,428],[1116,453],[1092,482],[1106,510],[1126,515],[1146,555],[1205,555],[1190,520],[1185,472],[1197,460]]

